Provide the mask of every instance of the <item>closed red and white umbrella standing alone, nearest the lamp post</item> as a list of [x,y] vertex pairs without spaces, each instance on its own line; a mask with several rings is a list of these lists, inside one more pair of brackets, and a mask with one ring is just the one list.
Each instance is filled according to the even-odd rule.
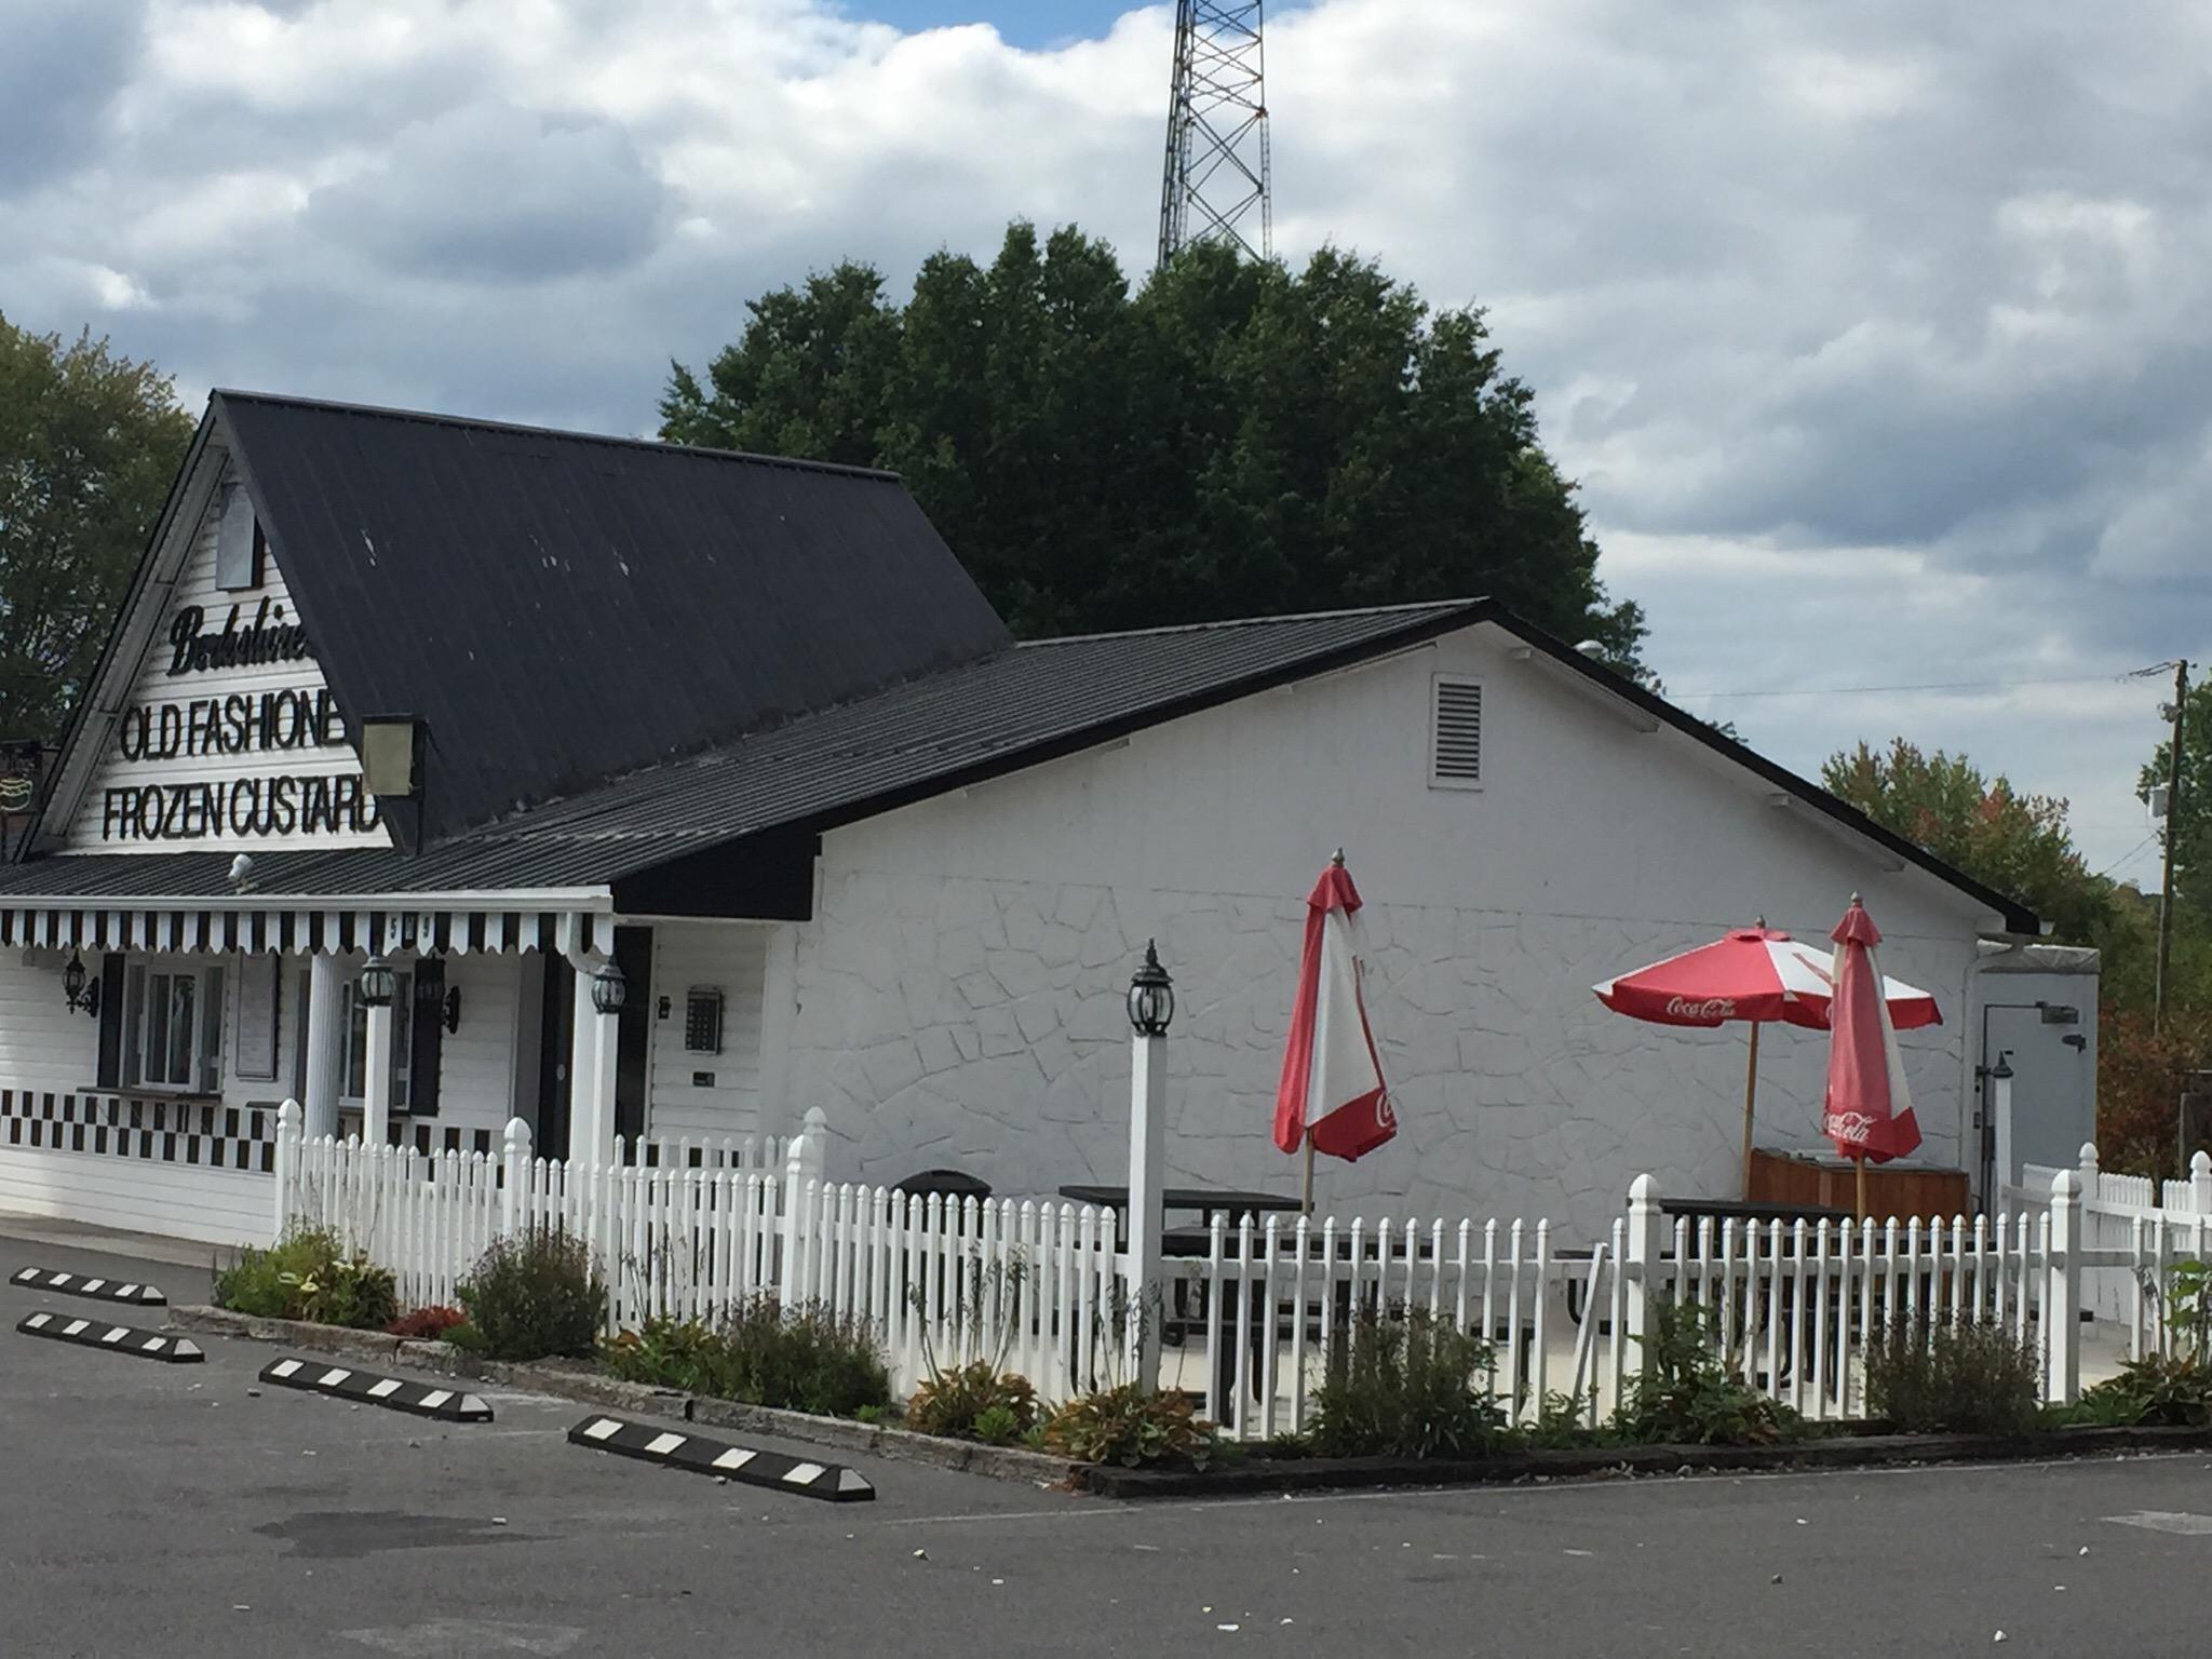
[[1305,1208],[1314,1208],[1314,1152],[1360,1159],[1398,1133],[1367,1000],[1360,993],[1360,894],[1338,852],[1305,898],[1298,1000],[1290,1011],[1274,1144],[1305,1150]]

